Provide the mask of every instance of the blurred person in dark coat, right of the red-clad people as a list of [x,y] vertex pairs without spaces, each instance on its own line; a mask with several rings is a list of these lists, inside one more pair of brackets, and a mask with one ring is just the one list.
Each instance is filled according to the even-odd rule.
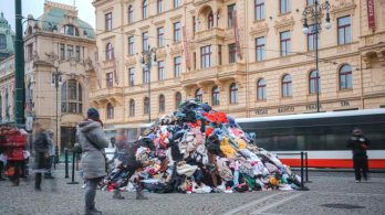
[[41,191],[42,173],[46,171],[46,159],[49,158],[49,140],[42,126],[34,126],[34,152],[35,152],[35,181],[34,190]]

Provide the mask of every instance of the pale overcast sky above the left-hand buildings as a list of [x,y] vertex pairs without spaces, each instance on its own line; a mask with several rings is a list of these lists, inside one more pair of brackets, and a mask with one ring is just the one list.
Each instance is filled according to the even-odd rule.
[[[34,18],[43,14],[45,0],[21,0],[22,13],[27,18],[32,14]],[[59,3],[73,6],[74,0],[51,0]],[[92,0],[76,0],[77,15],[95,28],[95,9],[92,6]],[[6,19],[11,24],[14,31],[14,0],[0,0],[0,11],[4,13]]]

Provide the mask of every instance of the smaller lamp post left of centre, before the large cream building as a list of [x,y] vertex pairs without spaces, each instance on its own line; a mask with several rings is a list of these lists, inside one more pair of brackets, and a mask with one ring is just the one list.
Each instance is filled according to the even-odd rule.
[[[143,51],[142,54],[142,68],[145,69],[145,76],[148,75],[147,84],[148,84],[148,123],[152,122],[152,66],[157,66],[156,62],[156,49],[150,47],[148,45],[148,49]],[[147,69],[147,74],[146,74]],[[144,80],[146,80],[146,77],[144,77]]]

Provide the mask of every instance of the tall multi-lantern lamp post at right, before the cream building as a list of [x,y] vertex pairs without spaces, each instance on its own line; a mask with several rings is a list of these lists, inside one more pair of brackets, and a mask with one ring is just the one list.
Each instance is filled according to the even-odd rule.
[[[303,29],[302,32],[304,34],[313,33],[315,35],[315,71],[316,71],[316,82],[315,82],[315,90],[316,90],[316,112],[320,112],[320,72],[319,72],[319,34],[322,30],[321,28],[321,19],[322,11],[326,11],[325,18],[325,29],[330,30],[332,28],[332,23],[330,22],[330,3],[326,0],[324,3],[319,3],[319,0],[314,0],[312,6],[309,6],[302,12],[303,17]],[[312,28],[309,28],[308,19],[313,21]]]

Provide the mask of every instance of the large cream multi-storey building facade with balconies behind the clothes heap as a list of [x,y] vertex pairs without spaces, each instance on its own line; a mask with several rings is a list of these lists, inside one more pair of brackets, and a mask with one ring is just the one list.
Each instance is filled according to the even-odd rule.
[[[320,77],[321,111],[384,107],[385,0],[330,1],[320,76],[314,35],[302,32],[313,2],[94,0],[100,85],[91,105],[111,127],[158,118],[188,97],[235,117],[314,112]],[[148,45],[149,71],[141,66]]]

